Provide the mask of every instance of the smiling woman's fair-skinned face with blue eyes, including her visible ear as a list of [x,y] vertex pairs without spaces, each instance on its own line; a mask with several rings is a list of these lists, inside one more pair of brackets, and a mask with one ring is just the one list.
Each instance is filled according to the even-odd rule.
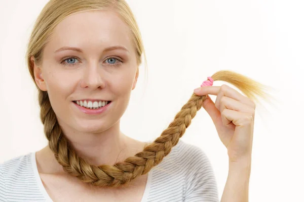
[[[73,14],[56,26],[34,75],[40,89],[48,91],[60,125],[102,132],[120,120],[138,77],[130,33],[111,11]],[[88,114],[73,103],[87,99],[111,103],[102,113]]]

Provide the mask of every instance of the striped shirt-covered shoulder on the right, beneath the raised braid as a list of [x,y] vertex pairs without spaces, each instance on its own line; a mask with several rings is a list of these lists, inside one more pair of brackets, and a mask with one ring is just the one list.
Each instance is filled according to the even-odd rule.
[[172,193],[176,201],[184,200],[185,197],[202,201],[205,199],[204,192],[208,200],[208,194],[212,197],[217,194],[212,168],[203,149],[181,139],[151,171],[152,190],[149,192],[148,201],[154,201],[155,198],[166,200],[172,197]]

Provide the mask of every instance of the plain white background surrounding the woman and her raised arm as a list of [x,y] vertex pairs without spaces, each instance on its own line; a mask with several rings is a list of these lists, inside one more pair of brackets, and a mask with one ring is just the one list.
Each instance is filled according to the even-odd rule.
[[[47,144],[37,90],[24,59],[34,20],[47,1],[0,2],[3,162]],[[207,76],[219,70],[239,72],[273,87],[271,93],[277,100],[256,108],[249,200],[303,201],[303,2],[128,3],[142,32],[148,80],[145,85],[142,65],[122,118],[122,131],[141,141],[154,140]],[[203,108],[181,139],[205,151],[221,197],[228,171],[226,148]]]

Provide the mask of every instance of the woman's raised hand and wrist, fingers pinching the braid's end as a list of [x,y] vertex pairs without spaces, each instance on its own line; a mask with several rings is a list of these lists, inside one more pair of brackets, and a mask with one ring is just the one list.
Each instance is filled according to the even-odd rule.
[[255,104],[228,85],[197,88],[197,95],[217,95],[215,103],[208,96],[202,107],[216,127],[227,148],[230,162],[251,163]]

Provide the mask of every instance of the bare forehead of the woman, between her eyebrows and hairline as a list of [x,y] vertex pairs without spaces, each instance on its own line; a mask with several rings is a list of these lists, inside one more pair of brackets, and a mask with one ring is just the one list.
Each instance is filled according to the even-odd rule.
[[117,13],[107,10],[85,11],[63,19],[54,29],[50,48],[63,45],[83,49],[109,45],[132,48],[130,29]]

